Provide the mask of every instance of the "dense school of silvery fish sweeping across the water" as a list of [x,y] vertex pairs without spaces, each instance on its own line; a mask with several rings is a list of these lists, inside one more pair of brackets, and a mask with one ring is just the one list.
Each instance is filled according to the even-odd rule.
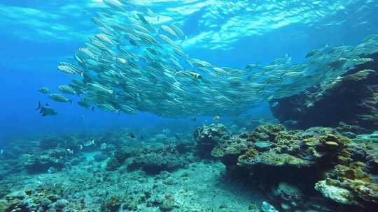
[[[309,52],[302,63],[292,63],[286,55],[267,66],[218,67],[186,53],[180,45],[186,34],[179,24],[152,22],[159,16],[151,9],[127,2],[104,0],[107,8],[92,17],[99,33],[75,52],[75,62],[57,67],[77,77],[57,86],[62,94],[49,94],[52,100],[71,103],[64,95],[76,95],[86,109],[125,114],[231,116],[332,82],[353,66],[372,61],[363,55],[378,52],[378,36],[372,35],[357,46],[325,45]],[[50,93],[46,87],[39,91]]]

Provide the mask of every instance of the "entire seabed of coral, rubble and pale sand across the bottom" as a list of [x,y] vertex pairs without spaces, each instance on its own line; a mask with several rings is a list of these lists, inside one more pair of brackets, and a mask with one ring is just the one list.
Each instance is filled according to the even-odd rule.
[[201,126],[195,142],[183,139],[191,133],[141,139],[130,130],[14,142],[0,158],[0,211],[377,208],[377,132],[351,139],[322,127],[232,131]]

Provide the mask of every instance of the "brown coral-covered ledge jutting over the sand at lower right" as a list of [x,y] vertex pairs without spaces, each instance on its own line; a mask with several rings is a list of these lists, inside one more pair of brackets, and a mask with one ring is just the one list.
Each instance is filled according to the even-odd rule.
[[304,196],[314,196],[315,190],[356,211],[378,206],[377,145],[355,142],[332,128],[281,125],[259,126],[214,143],[211,155],[221,158],[230,176],[253,176],[260,186],[270,185],[283,209],[304,207]]

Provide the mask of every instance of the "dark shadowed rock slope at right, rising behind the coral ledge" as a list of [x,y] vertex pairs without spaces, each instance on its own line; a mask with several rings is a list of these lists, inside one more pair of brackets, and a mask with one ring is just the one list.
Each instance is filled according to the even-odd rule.
[[378,127],[378,53],[373,61],[360,64],[330,84],[318,84],[295,96],[270,100],[272,113],[291,128],[337,127],[340,122],[358,126],[353,130]]

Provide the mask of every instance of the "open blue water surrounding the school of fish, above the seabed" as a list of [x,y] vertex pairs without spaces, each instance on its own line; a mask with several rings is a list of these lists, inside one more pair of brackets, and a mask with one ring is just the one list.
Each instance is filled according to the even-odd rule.
[[[377,32],[375,1],[143,3],[155,13],[177,16],[188,38],[195,39],[186,47],[188,54],[218,66],[244,68],[246,63],[269,63],[285,54],[292,56],[293,61],[302,61],[316,47],[354,45]],[[238,4],[248,5],[249,10]],[[151,124],[169,121],[153,114],[92,113],[77,105],[56,105],[59,116],[55,117],[42,118],[34,112],[38,100],[49,101],[36,92],[38,88],[54,88],[67,82],[68,77],[58,73],[57,63],[72,59],[73,52],[96,32],[90,17],[102,7],[100,1],[1,1],[1,135],[145,125],[144,120]],[[210,16],[213,13],[217,15]],[[235,26],[226,26],[230,20]],[[244,24],[248,30],[239,33]],[[204,32],[209,35],[201,38]],[[269,116],[268,111],[265,114]]]

